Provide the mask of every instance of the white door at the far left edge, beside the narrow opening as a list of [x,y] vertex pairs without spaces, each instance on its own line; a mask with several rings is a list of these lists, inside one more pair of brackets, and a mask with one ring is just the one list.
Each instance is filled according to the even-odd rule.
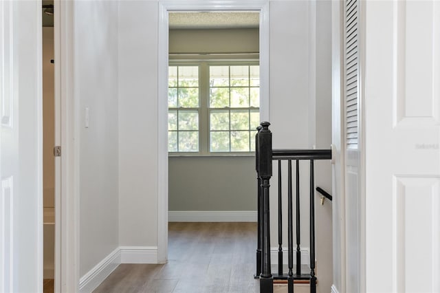
[[0,107],[0,292],[42,292],[41,1],[0,1]]

